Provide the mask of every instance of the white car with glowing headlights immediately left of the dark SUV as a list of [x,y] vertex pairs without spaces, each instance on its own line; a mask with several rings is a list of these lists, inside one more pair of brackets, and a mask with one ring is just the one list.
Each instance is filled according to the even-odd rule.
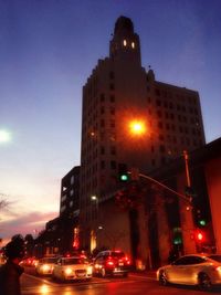
[[92,265],[85,257],[60,257],[53,270],[53,278],[60,281],[91,280]]

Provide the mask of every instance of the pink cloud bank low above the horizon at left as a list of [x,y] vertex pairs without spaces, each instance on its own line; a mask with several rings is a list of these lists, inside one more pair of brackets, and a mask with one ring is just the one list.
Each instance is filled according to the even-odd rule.
[[3,239],[1,246],[14,234],[36,234],[45,228],[45,223],[57,217],[57,212],[12,213],[3,212],[0,219],[0,238]]

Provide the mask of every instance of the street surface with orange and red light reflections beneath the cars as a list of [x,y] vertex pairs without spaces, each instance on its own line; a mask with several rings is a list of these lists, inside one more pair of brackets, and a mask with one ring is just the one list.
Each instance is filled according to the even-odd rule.
[[21,277],[22,295],[208,295],[221,294],[221,288],[202,292],[189,286],[159,286],[155,277],[129,274],[123,277],[93,277],[90,282],[54,282],[51,277],[39,277],[32,272]]

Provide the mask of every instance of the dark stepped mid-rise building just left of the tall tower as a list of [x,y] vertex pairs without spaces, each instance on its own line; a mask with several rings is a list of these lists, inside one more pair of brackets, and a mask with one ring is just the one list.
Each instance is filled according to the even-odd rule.
[[77,251],[80,217],[80,166],[61,180],[60,214],[45,224],[35,239],[35,255],[57,255]]

